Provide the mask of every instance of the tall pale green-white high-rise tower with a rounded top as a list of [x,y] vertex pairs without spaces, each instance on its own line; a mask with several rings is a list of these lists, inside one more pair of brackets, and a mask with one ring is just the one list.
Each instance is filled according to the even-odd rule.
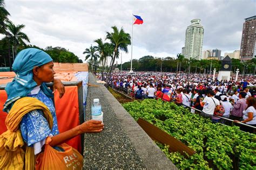
[[204,27],[201,25],[200,19],[193,19],[191,25],[186,29],[185,58],[201,59],[203,37]]

